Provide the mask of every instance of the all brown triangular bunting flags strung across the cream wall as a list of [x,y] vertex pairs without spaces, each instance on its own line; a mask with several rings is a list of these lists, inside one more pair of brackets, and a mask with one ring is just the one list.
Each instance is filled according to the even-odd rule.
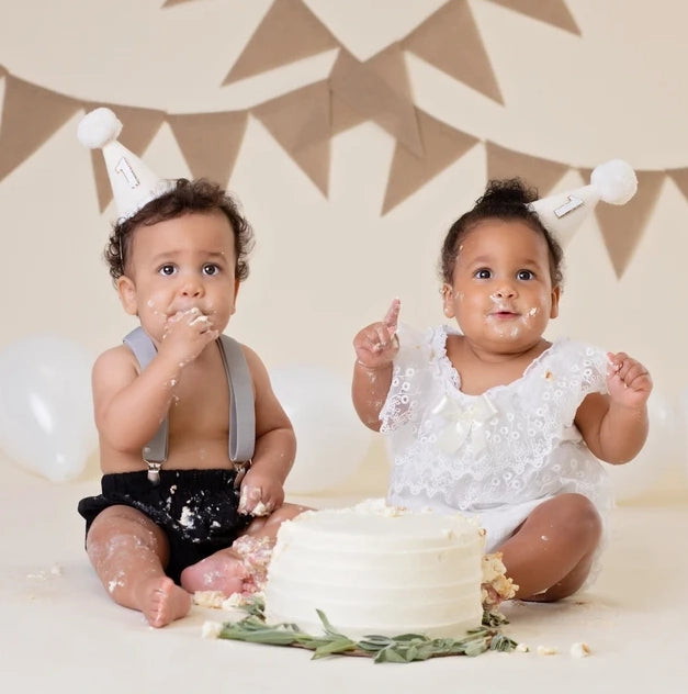
[[[166,0],[171,9],[198,0]],[[565,0],[485,0],[579,35]],[[463,133],[417,109],[404,53],[413,53],[478,93],[504,104],[499,85],[467,0],[448,0],[414,31],[372,58],[354,58],[303,0],[273,0],[228,70],[223,85],[247,79],[295,60],[339,48],[326,80],[285,93],[245,111],[167,114],[155,109],[93,104],[12,76],[0,65],[4,102],[0,120],[0,181],[31,157],[79,110],[111,105],[126,127],[122,142],[143,156],[168,123],[193,177],[228,183],[240,154],[248,115],[255,116],[284,152],[327,195],[331,137],[373,121],[395,139],[382,214],[461,159],[475,144],[485,146],[488,178],[521,177],[551,192],[569,170],[589,170],[512,150]],[[93,156],[100,210],[112,193],[102,157]],[[688,168],[636,171],[639,192],[622,208],[598,205],[596,217],[617,276],[621,276],[670,178],[688,200]]]

